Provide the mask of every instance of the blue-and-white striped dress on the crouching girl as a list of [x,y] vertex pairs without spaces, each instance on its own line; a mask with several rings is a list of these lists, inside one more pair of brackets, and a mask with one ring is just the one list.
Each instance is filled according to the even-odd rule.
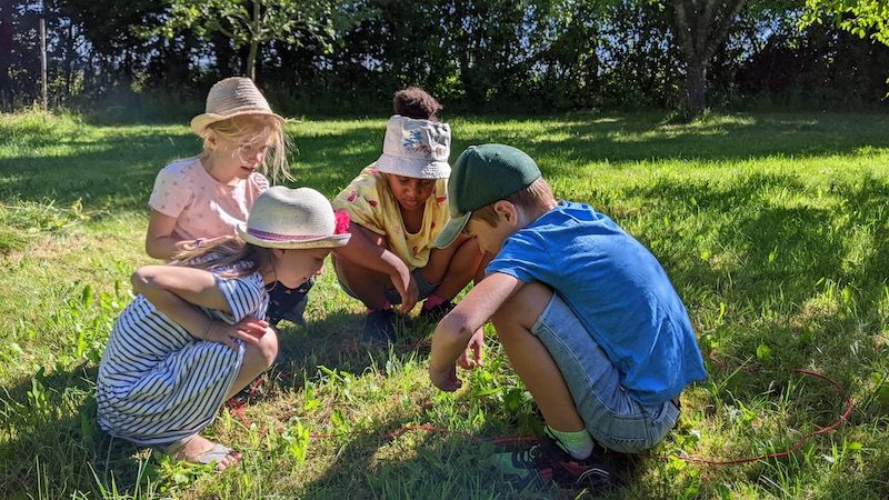
[[[203,309],[233,324],[264,318],[268,294],[259,272],[216,276],[231,314]],[[99,364],[99,427],[138,444],[164,444],[200,432],[216,418],[243,362],[228,346],[198,340],[137,296],[118,317]]]

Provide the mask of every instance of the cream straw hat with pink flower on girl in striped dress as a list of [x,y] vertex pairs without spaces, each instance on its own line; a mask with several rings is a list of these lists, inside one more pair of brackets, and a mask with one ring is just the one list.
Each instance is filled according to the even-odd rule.
[[330,202],[311,188],[274,186],[257,198],[247,228],[238,236],[266,248],[333,248],[349,241],[346,212],[333,213]]

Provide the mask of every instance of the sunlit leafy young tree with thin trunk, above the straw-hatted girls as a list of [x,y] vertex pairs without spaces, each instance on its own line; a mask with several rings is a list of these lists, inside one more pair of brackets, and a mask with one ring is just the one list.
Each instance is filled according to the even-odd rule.
[[249,47],[247,72],[256,80],[263,43],[282,40],[301,47],[311,37],[330,50],[337,33],[361,16],[341,0],[170,0],[167,22],[144,34],[172,38],[191,30],[209,41],[222,33],[236,49]]

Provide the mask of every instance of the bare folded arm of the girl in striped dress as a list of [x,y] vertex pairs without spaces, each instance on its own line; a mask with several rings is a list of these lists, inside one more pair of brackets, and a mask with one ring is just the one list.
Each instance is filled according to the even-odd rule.
[[178,266],[146,266],[131,278],[136,293],[141,293],[154,308],[202,340],[222,342],[237,350],[233,339],[256,344],[268,323],[246,318],[237,324],[208,318],[194,306],[230,312],[224,296],[211,272]]

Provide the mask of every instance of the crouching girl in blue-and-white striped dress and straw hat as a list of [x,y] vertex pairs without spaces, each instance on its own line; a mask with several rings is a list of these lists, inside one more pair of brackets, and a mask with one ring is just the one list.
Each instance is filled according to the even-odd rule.
[[99,366],[102,430],[218,470],[240,459],[198,433],[274,360],[278,340],[261,320],[266,287],[308,281],[349,234],[321,193],[284,187],[259,196],[238,233],[242,240],[217,239],[133,273],[138,296],[114,322]]

